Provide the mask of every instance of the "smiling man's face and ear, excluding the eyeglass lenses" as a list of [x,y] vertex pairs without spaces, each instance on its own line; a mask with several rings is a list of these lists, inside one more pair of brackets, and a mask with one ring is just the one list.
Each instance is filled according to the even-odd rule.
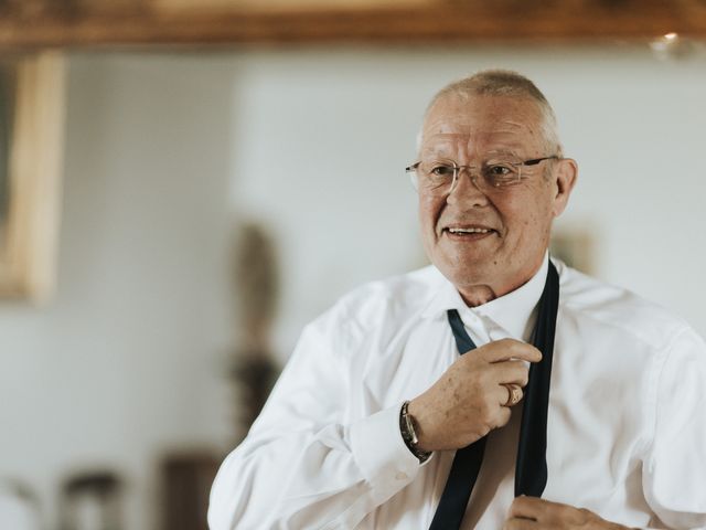
[[[419,158],[480,168],[490,159],[556,155],[546,149],[542,115],[533,100],[449,95],[427,114]],[[546,160],[523,167],[522,176],[514,186],[485,193],[468,171],[461,172],[451,193],[431,194],[420,188],[419,219],[427,255],[471,305],[514,290],[538,269],[552,221],[566,206],[574,186],[576,163]]]

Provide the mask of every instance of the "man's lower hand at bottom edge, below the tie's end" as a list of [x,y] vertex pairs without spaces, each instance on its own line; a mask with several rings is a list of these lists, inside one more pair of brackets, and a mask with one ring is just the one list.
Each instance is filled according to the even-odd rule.
[[536,497],[517,497],[503,530],[628,530],[601,519],[592,511]]

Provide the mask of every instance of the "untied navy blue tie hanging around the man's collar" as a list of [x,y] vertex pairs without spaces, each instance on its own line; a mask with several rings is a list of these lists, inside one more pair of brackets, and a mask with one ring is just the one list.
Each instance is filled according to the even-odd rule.
[[[515,496],[541,497],[547,483],[547,412],[556,316],[559,303],[559,275],[549,261],[547,280],[537,307],[537,322],[533,331],[533,344],[542,351],[542,361],[530,368],[530,382],[524,389],[524,407],[517,444],[515,468]],[[456,309],[447,314],[459,353],[467,353],[475,344],[466,332],[463,321]],[[456,452],[434,515],[429,530],[456,530],[461,527],[463,515],[483,462],[485,439],[482,437]]]

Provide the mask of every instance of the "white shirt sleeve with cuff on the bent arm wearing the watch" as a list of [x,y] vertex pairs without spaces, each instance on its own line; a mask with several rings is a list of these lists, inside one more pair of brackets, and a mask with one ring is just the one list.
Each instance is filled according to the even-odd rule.
[[218,470],[211,530],[353,528],[419,468],[399,406],[354,417],[351,339],[330,311],[308,326],[246,439]]

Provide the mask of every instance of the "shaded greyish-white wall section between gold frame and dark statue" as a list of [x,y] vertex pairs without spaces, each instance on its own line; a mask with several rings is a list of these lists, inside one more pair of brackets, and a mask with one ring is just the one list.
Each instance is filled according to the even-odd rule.
[[58,293],[0,306],[0,476],[38,488],[56,528],[67,473],[118,468],[139,530],[157,458],[231,431],[229,71],[95,55],[68,74]]

